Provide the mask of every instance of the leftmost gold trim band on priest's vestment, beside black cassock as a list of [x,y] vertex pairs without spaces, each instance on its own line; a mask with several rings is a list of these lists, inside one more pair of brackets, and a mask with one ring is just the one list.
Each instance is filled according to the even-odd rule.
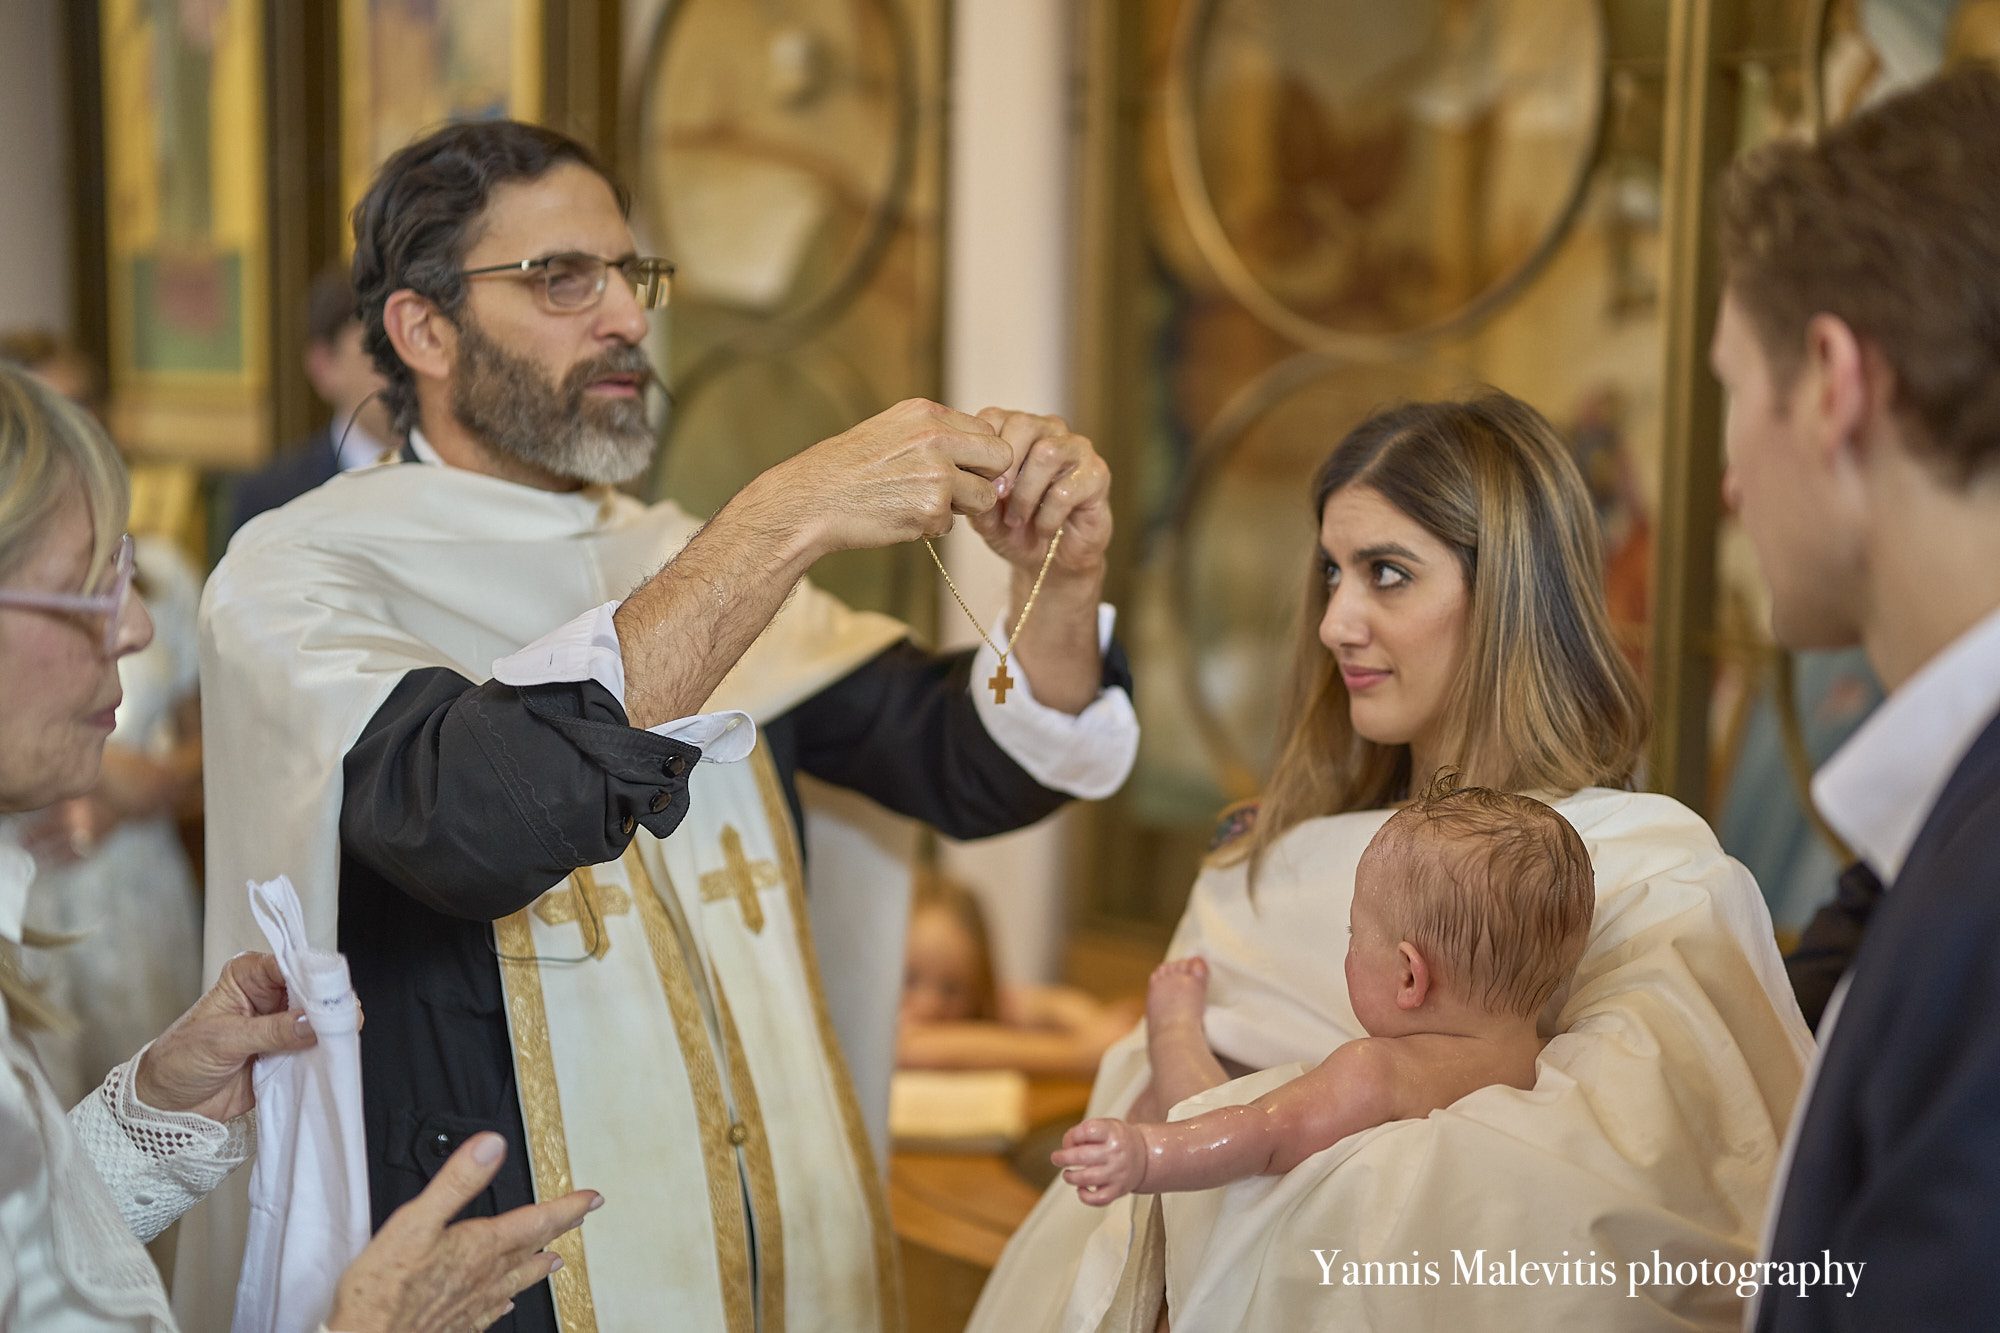
[[[556,1057],[548,1049],[548,1009],[542,1003],[542,965],[534,961],[534,929],[526,909],[494,923],[500,979],[506,983],[506,1017],[514,1037],[514,1083],[520,1085],[520,1119],[528,1131],[528,1169],[536,1199],[560,1199],[570,1181],[570,1141],[562,1135],[562,1095],[556,1091]],[[550,1277],[556,1293],[556,1327],[562,1333],[598,1333],[598,1307],[590,1297],[582,1229],[548,1243],[562,1255]]]

